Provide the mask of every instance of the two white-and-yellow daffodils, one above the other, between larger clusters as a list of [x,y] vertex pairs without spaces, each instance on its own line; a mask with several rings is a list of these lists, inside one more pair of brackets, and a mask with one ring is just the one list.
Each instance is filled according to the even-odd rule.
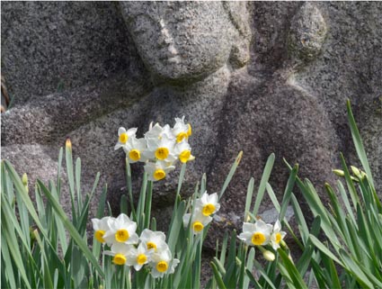
[[207,194],[205,192],[200,198],[195,200],[193,205],[193,212],[183,215],[184,228],[190,229],[194,234],[200,234],[204,227],[212,221],[211,215],[218,212],[220,203],[218,203],[218,194]]

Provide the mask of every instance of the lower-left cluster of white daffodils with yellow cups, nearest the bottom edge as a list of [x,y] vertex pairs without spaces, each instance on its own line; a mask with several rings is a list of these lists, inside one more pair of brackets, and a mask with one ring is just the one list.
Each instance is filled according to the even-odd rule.
[[124,213],[92,222],[95,239],[110,248],[103,254],[112,256],[114,264],[134,266],[137,271],[147,266],[155,278],[173,274],[179,260],[172,257],[163,232],[145,229],[138,237],[137,223]]

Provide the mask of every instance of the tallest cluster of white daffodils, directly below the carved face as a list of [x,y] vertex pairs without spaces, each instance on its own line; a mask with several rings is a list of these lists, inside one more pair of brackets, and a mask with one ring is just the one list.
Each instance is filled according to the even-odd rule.
[[188,142],[191,132],[191,124],[184,122],[184,116],[182,119],[175,118],[173,128],[169,124],[162,127],[152,122],[141,139],[136,137],[137,128],[126,131],[121,127],[114,149],[122,148],[130,164],[145,163],[147,179],[159,181],[175,168],[173,165],[178,159],[182,163],[194,159]]

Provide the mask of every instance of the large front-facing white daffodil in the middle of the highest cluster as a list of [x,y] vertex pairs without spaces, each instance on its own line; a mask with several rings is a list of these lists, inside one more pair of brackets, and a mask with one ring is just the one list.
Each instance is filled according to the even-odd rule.
[[146,158],[173,162],[176,156],[173,153],[175,140],[163,133],[161,138],[145,138],[147,140]]

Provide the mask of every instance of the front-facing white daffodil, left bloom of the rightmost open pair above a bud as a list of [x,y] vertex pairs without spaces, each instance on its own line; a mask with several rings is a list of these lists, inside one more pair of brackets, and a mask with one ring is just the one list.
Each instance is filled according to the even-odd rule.
[[244,240],[247,245],[267,245],[271,239],[271,231],[272,225],[266,224],[262,220],[258,220],[254,224],[251,222],[244,222],[243,232],[238,238]]

